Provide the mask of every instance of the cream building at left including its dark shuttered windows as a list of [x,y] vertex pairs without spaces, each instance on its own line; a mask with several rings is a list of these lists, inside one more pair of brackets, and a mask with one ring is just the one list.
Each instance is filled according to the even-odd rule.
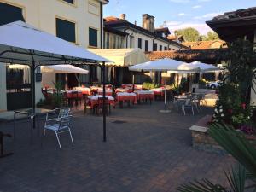
[[[106,3],[108,0],[0,0],[0,25],[24,20],[84,49],[102,49],[102,9]],[[0,66],[0,109],[13,109],[8,98],[18,93],[24,96],[25,92],[30,95],[31,75],[26,67]],[[55,81],[55,74],[49,74],[47,79]],[[42,82],[38,82],[37,101],[42,98],[41,87]]]

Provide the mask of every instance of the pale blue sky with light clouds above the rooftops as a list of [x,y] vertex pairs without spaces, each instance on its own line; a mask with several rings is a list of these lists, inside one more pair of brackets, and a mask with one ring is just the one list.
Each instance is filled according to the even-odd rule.
[[237,9],[256,7],[256,0],[109,0],[104,16],[126,14],[126,20],[142,26],[142,14],[153,15],[155,27],[175,30],[194,27],[201,34],[211,29],[205,21]]

